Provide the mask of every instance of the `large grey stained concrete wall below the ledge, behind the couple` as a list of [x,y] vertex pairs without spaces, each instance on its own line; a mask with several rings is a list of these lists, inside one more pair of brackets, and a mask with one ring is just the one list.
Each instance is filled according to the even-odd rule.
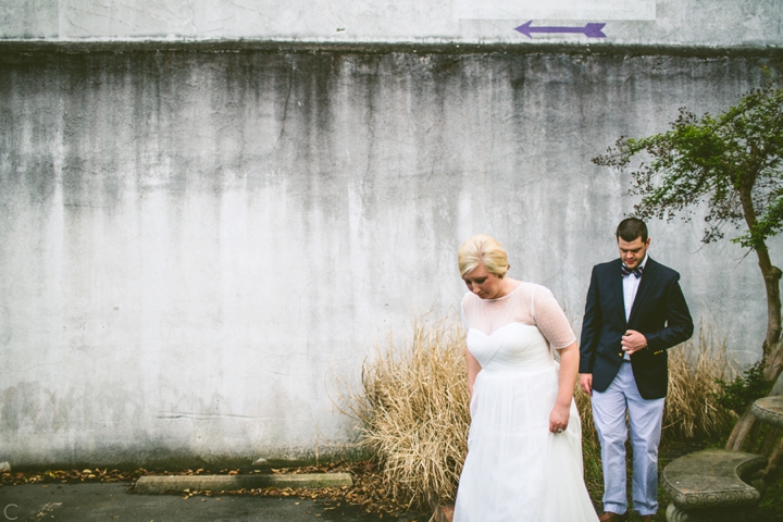
[[[497,236],[579,327],[634,199],[589,159],[717,112],[770,59],[236,50],[0,53],[0,460],[296,457],[326,395]],[[758,357],[753,257],[652,222],[697,316]],[[780,260],[780,241],[774,240]]]

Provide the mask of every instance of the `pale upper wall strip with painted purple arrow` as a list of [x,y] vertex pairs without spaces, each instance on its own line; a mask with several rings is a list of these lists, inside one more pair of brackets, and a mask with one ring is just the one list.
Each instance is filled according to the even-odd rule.
[[[514,30],[606,24],[605,37]],[[1,0],[0,39],[780,47],[780,0]]]

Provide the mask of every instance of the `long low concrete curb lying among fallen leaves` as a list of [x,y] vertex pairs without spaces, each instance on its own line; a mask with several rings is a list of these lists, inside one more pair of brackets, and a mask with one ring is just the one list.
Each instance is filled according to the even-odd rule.
[[136,481],[135,492],[159,494],[166,492],[227,492],[262,487],[343,487],[352,486],[349,473],[301,473],[288,475],[162,475],[142,476]]

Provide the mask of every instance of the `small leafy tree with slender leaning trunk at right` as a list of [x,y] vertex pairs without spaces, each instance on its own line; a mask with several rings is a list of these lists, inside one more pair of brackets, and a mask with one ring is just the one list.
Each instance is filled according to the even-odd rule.
[[[632,159],[641,159],[632,163]],[[718,116],[697,117],[685,109],[671,129],[647,138],[621,137],[598,165],[630,170],[630,192],[642,196],[634,214],[689,220],[707,203],[704,243],[741,231],[731,240],[755,251],[767,290],[763,377],[783,369],[781,271],[772,264],[767,241],[783,229],[783,88],[768,83],[745,95]],[[729,446],[738,449],[753,427],[749,409],[737,422]]]

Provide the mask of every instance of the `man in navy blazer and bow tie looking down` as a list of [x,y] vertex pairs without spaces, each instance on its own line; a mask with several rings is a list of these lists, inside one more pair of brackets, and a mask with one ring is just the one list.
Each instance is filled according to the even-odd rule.
[[680,274],[647,256],[642,220],[617,229],[620,259],[593,268],[582,323],[580,386],[593,397],[604,465],[601,522],[627,520],[625,440],[631,425],[633,507],[643,522],[658,510],[658,442],[669,384],[667,349],[688,339],[693,321]]

